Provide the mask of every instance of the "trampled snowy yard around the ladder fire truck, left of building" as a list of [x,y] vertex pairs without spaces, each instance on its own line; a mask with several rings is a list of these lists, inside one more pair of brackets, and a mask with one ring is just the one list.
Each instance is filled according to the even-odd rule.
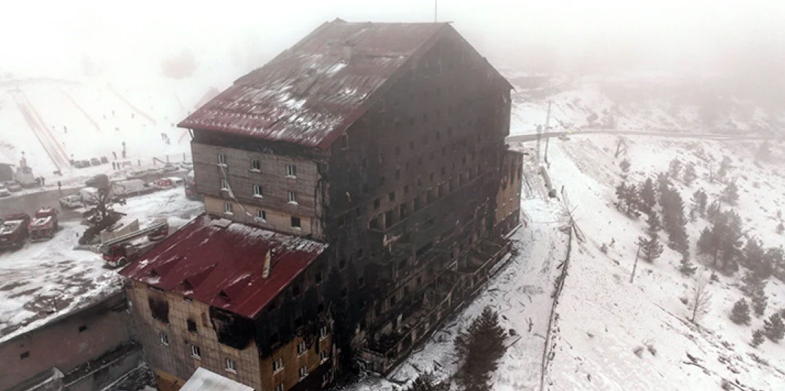
[[[203,204],[173,188],[128,199],[115,209],[139,219],[141,226],[166,217],[174,229],[201,213]],[[120,289],[117,271],[104,269],[100,254],[71,250],[86,227],[77,222],[60,226],[51,240],[0,252],[0,341]]]

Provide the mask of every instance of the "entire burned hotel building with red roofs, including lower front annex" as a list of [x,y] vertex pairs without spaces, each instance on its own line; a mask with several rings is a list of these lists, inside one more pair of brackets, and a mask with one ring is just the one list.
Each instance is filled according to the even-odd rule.
[[322,24],[184,119],[206,214],[129,276],[159,384],[385,373],[509,250],[510,89],[450,24]]

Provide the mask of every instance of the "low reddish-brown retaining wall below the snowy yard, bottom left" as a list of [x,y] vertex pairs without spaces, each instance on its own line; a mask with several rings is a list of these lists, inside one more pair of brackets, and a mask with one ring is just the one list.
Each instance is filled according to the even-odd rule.
[[[0,344],[0,389],[57,367],[66,373],[130,341],[126,295],[119,292],[96,305]],[[80,329],[84,328],[82,331]],[[27,355],[22,358],[23,355]]]

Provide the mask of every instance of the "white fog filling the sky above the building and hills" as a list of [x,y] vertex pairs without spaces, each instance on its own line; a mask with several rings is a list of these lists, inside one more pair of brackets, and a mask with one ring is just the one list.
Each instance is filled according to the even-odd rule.
[[[188,49],[231,81],[335,17],[429,22],[434,2],[322,0],[96,0],[6,5],[0,77],[78,75],[86,57],[100,71],[133,78]],[[721,76],[736,91],[780,97],[785,82],[785,2],[516,2],[441,0],[454,26],[500,68],[620,75]],[[221,66],[232,63],[235,68]],[[221,73],[225,73],[222,75]],[[122,76],[121,76],[122,75]],[[773,87],[773,88],[772,88]]]

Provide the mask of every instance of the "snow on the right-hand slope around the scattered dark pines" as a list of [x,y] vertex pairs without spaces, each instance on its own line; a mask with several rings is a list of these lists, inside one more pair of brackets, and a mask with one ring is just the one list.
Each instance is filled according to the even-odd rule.
[[[645,223],[643,218],[633,221],[625,217],[612,205],[615,185],[620,181],[618,164],[625,157],[633,165],[633,183],[666,170],[675,157],[696,163],[701,178],[689,187],[677,182],[688,209],[688,200],[698,188],[707,191],[710,201],[717,198],[725,185],[710,184],[708,170],[716,172],[722,155],[732,156],[737,168],[730,177],[736,178],[741,189],[734,207],[745,227],[751,229],[748,235],[761,237],[766,247],[778,247],[785,244],[785,236],[776,234],[775,217],[785,192],[783,177],[776,174],[781,165],[753,163],[751,143],[657,137],[628,139],[626,155],[614,159],[615,141],[610,136],[573,137],[552,145],[556,148],[550,158],[551,175],[557,186],[568,188],[587,243],[573,254],[557,310],[559,340],[550,364],[549,388],[711,389],[727,379],[743,389],[781,389],[785,384],[785,345],[767,340],[753,348],[748,345],[751,334],[761,327],[763,318],[753,318],[751,326],[739,326],[728,319],[733,303],[743,296],[738,288],[743,274],[719,275],[719,283],[710,285],[713,298],[709,312],[699,325],[690,323],[688,308],[680,298],[688,297],[695,277],[681,276],[677,271],[681,258],[666,248],[653,264],[641,261],[634,283],[630,283],[635,241],[644,234]],[[696,255],[695,243],[699,230],[707,224],[702,218],[688,224],[693,259],[698,261],[706,261]],[[602,254],[601,245],[612,239],[615,244],[608,254]],[[699,265],[699,273],[709,271]],[[783,283],[769,279],[767,294],[765,317],[785,305]],[[633,353],[648,345],[652,352],[644,349],[640,357]],[[687,364],[688,354],[703,368]]]

